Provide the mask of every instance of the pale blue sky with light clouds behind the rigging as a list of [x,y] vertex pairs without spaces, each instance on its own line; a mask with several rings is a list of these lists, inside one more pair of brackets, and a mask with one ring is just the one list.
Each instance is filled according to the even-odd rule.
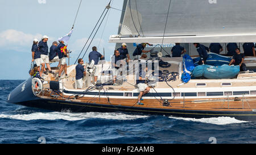
[[[86,40],[110,0],[82,0],[68,50],[72,50],[70,64],[75,63]],[[0,80],[27,79],[31,66],[31,47],[34,38],[49,37],[48,47],[72,28],[80,0],[0,0]],[[111,6],[122,10],[123,1],[112,0]],[[117,35],[122,11],[110,8],[89,50],[97,46],[106,60],[115,49],[110,35]],[[85,47],[84,51],[86,50]],[[84,53],[82,53],[83,55]],[[57,66],[57,63],[51,64]]]

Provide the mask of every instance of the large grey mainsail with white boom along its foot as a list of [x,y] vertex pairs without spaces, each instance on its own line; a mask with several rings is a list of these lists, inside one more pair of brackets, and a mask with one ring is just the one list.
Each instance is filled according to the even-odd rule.
[[[164,42],[252,41],[256,36],[255,3],[256,0],[128,0],[121,31],[118,36],[111,36],[110,42],[116,42],[114,38],[118,37],[126,42],[140,42],[143,37],[155,41],[163,37],[164,31]],[[142,38],[127,38],[130,35]]]

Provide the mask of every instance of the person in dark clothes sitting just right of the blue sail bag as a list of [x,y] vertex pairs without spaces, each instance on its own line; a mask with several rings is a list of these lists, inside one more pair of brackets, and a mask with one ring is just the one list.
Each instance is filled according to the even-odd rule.
[[240,48],[236,49],[236,54],[233,55],[232,60],[229,63],[229,66],[231,64],[234,65],[239,65],[240,66],[240,71],[246,71],[246,66],[245,63],[243,63],[245,60],[245,55],[241,53]]

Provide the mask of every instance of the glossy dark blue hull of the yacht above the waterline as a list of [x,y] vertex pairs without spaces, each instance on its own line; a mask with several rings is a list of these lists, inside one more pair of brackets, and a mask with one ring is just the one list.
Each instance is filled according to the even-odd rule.
[[[24,83],[26,83],[24,85]],[[18,104],[28,107],[36,107],[52,111],[71,111],[73,113],[85,112],[125,112],[125,113],[142,113],[153,115],[171,115],[176,117],[188,118],[210,118],[210,117],[234,117],[240,120],[256,120],[254,111],[196,111],[196,110],[177,110],[177,109],[160,109],[148,107],[131,107],[131,106],[114,106],[95,103],[83,103],[74,101],[60,101],[43,99],[34,96],[31,90],[31,79],[24,81],[10,93],[9,100],[12,104]],[[22,88],[23,87],[23,91]],[[21,92],[22,91],[22,92]]]

